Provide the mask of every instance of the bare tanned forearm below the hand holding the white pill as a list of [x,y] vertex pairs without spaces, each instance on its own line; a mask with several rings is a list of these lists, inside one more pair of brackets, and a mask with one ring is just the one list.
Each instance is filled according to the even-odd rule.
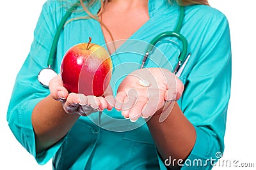
[[195,144],[195,128],[184,116],[176,102],[173,108],[167,108],[166,112],[170,114],[164,122],[159,122],[160,115],[150,118],[147,122],[148,129],[164,160],[169,157],[172,157],[172,160],[184,160]]

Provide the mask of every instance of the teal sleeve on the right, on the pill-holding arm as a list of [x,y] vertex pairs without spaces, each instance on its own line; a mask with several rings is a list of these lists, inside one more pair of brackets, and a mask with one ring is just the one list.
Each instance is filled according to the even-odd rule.
[[[231,45],[228,21],[223,14],[212,22],[203,39],[195,62],[188,66],[191,69],[187,70],[186,80],[182,80],[185,89],[179,105],[196,130],[195,145],[182,169],[212,169],[224,151]],[[159,164],[166,169],[160,157]]]

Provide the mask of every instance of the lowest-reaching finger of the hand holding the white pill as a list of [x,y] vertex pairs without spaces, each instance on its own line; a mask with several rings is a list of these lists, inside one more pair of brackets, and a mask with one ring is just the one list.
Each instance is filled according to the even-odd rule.
[[147,102],[147,97],[139,96],[138,101],[134,104],[129,113],[131,122],[136,122],[136,120],[138,120],[138,118],[141,117],[142,110],[147,104]]

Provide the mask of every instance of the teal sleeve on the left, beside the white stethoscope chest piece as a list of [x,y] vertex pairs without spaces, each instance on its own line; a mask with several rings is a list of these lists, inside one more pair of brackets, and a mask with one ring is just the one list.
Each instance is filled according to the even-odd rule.
[[44,153],[36,155],[35,135],[31,124],[31,113],[36,104],[49,95],[49,89],[39,83],[37,76],[41,69],[47,67],[56,30],[54,15],[51,12],[56,12],[56,8],[53,9],[52,2],[47,1],[40,13],[31,50],[17,75],[7,113],[7,121],[15,138],[39,164],[45,164],[51,159],[61,145],[60,141]]

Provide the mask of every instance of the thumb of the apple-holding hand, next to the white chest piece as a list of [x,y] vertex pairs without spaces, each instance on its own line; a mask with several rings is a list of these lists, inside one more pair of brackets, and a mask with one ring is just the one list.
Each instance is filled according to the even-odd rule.
[[68,90],[63,87],[60,74],[52,78],[49,83],[49,90],[53,99],[57,101],[63,101],[68,97]]

